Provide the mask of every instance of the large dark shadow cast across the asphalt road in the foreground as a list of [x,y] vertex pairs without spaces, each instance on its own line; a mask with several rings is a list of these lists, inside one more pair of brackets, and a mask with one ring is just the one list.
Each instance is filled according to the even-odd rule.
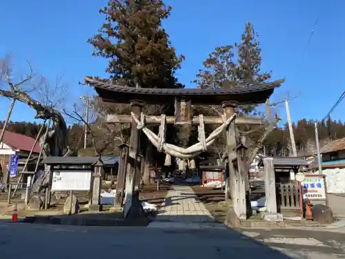
[[[93,251],[102,248],[104,253],[116,251],[128,258],[144,256],[148,253],[153,259],[292,258],[235,229],[226,229],[210,222],[190,222],[183,225],[182,220],[176,218],[175,224],[172,220],[170,225],[165,224],[165,226],[164,222],[159,222],[161,225],[156,224],[155,227],[150,225],[149,227],[57,226],[9,223],[7,220],[0,220],[1,254],[10,255],[13,247],[9,244],[13,242],[16,247],[28,251],[27,256],[30,258],[32,256],[30,253],[35,249],[26,248],[39,240],[41,247],[39,251],[54,251],[52,258],[58,258],[58,255],[70,258],[74,253],[73,250],[79,251],[79,257],[84,255],[83,258],[94,258],[91,256]],[[184,219],[184,222],[188,220]],[[83,249],[73,248],[76,241],[83,244]],[[59,249],[56,244],[59,244]],[[115,250],[110,251],[111,247]]]

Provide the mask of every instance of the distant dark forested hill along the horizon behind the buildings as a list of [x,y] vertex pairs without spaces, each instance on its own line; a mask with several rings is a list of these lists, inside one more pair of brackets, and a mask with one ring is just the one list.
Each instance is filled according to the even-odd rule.
[[[3,122],[0,122],[0,128],[3,127]],[[10,122],[8,124],[8,131],[36,137],[40,124],[30,122]],[[330,140],[335,140],[345,137],[345,124],[340,121],[317,122],[319,131],[320,144],[324,144]],[[83,126],[75,124],[68,127],[68,140],[72,148],[81,148],[83,139]],[[315,131],[314,121],[300,119],[297,124],[293,124],[293,131],[295,135],[295,142],[297,146],[298,155],[311,155],[315,152]],[[276,128],[266,139],[265,142],[266,155],[286,156],[291,152],[290,133],[288,132],[287,124],[282,128]],[[107,153],[110,151],[106,151]]]

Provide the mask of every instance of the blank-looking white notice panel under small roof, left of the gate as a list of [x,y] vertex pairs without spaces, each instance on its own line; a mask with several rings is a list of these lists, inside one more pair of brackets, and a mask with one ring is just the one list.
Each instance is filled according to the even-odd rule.
[[90,191],[91,171],[55,171],[52,191]]

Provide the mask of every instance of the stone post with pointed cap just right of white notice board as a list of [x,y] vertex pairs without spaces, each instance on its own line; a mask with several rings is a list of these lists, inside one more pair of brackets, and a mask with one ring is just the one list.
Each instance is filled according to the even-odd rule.
[[89,206],[90,211],[101,211],[101,184],[102,184],[102,173],[103,173],[103,161],[101,157],[99,160],[93,165],[93,173],[92,173],[92,198],[91,204]]

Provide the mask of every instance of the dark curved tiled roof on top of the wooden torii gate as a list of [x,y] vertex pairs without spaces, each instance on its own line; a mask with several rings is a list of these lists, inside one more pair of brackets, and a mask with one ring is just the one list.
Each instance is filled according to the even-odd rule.
[[85,81],[95,87],[99,97],[104,102],[129,104],[132,100],[141,100],[147,104],[173,104],[175,99],[188,99],[193,104],[221,104],[221,102],[236,102],[237,104],[262,104],[273,94],[284,79],[251,86],[237,86],[228,89],[200,88],[130,88],[108,84],[86,77]]

